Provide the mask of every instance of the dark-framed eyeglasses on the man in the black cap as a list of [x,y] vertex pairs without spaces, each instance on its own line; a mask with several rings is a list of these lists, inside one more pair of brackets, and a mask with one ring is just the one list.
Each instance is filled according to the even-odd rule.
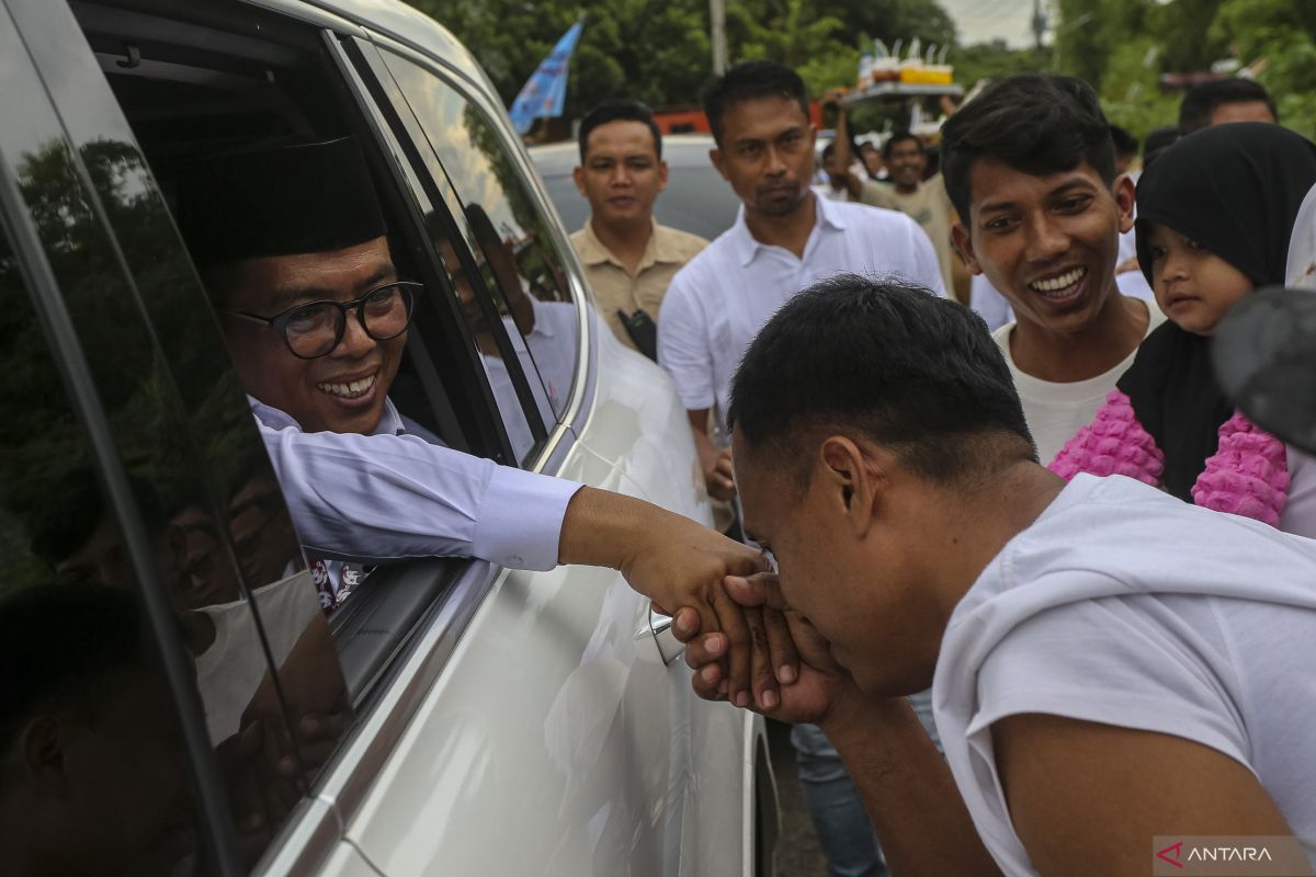
[[351,301],[311,301],[274,317],[241,310],[224,313],[275,329],[293,356],[316,359],[333,352],[342,341],[342,334],[347,330],[347,312],[353,309],[357,310],[361,327],[375,341],[388,341],[403,334],[411,322],[416,296],[424,288],[418,283],[396,280],[375,287]]

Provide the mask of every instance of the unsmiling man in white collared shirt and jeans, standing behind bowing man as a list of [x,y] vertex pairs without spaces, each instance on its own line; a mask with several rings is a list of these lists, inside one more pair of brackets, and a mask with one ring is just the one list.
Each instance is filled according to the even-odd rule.
[[[790,67],[763,60],[733,67],[705,91],[704,112],[717,142],[709,158],[744,204],[736,225],[672,279],[658,320],[658,363],[686,405],[708,492],[730,500],[730,377],[779,306],[842,271],[899,275],[941,296],[945,288],[932,243],[913,220],[828,201],[809,188],[816,129],[804,82]],[[716,442],[705,431],[711,409]],[[884,873],[836,749],[815,726],[796,726],[791,739],[832,876]]]

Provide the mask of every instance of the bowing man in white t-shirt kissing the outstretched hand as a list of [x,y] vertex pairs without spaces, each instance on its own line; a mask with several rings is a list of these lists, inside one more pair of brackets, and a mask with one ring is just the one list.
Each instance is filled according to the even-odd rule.
[[[894,873],[1146,874],[1221,835],[1312,873],[1316,542],[1123,476],[1066,485],[980,322],[907,284],[787,302],[732,422],[778,576],[728,588],[786,609],[799,650],[758,703],[836,743]],[[726,647],[687,646],[704,697]],[[929,681],[945,761],[900,697]]]

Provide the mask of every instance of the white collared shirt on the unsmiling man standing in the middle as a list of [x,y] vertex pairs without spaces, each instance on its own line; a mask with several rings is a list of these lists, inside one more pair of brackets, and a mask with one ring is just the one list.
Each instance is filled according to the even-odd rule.
[[813,199],[817,221],[804,258],[759,243],[745,208],[672,277],[658,314],[658,364],[667,369],[687,410],[717,409],[726,442],[730,379],[763,323],[795,293],[841,272],[898,275],[938,296],[937,254],[904,213]]

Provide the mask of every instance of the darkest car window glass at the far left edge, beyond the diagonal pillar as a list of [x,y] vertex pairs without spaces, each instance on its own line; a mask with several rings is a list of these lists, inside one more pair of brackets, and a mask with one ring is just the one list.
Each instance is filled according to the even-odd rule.
[[[129,550],[101,486],[4,239],[0,301],[0,757],[11,765],[5,794],[18,822],[7,834],[18,848],[5,859],[58,853],[86,873],[163,876],[186,865],[200,873],[215,859],[213,838],[197,818],[179,698],[158,659],[138,575],[142,557]],[[168,555],[163,498],[139,476],[134,483],[133,504],[154,525],[153,548]],[[180,706],[186,711],[187,701]],[[88,799],[57,794],[54,782]]]

